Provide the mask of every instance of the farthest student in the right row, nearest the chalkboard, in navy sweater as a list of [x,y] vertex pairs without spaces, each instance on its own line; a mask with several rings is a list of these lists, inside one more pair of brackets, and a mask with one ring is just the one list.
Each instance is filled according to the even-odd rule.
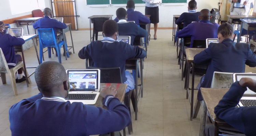
[[200,21],[199,14],[200,12],[196,12],[197,9],[197,2],[195,0],[190,0],[188,2],[188,12],[184,12],[181,16],[176,20],[176,24],[182,24],[186,27],[191,22]]

